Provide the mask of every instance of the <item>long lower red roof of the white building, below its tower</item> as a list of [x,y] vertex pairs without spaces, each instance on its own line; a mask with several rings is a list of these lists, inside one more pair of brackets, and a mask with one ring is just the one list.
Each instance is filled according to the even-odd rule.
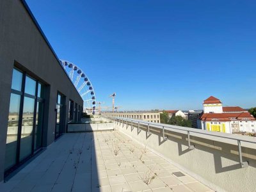
[[230,120],[255,120],[255,118],[248,112],[241,113],[204,113],[200,120],[203,121],[230,121]]

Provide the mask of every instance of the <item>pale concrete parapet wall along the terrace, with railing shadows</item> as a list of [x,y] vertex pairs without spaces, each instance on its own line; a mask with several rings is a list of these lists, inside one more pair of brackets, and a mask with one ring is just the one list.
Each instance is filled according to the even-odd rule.
[[146,145],[209,188],[216,191],[256,191],[254,143],[242,142],[243,161],[248,161],[249,166],[241,168],[236,141],[193,132],[190,141],[195,149],[189,149],[186,131],[166,129],[168,140],[163,140],[162,129],[152,125],[150,135],[147,134],[147,125],[140,125],[140,131],[138,124],[131,126],[121,123],[115,124],[115,129]]

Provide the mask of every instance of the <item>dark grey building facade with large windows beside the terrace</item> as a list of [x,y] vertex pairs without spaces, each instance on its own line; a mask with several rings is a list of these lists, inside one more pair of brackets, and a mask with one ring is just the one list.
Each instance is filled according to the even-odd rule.
[[79,120],[83,99],[25,1],[0,3],[0,182]]

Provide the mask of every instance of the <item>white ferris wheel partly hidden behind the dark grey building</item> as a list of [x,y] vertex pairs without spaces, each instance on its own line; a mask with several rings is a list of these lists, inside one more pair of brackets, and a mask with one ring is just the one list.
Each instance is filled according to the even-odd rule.
[[65,72],[76,87],[77,92],[84,100],[84,112],[95,114],[96,96],[92,86],[92,82],[86,74],[74,63],[60,60]]

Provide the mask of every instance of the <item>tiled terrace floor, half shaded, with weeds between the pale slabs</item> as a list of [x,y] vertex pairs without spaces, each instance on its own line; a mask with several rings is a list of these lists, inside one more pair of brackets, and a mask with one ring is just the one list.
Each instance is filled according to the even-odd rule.
[[0,184],[0,191],[211,191],[175,172],[180,170],[121,132],[72,133]]

